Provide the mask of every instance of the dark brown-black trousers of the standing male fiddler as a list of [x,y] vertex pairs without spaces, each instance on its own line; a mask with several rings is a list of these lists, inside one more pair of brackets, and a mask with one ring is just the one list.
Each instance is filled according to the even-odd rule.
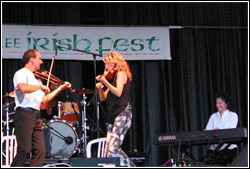
[[32,152],[30,166],[43,166],[46,156],[44,133],[38,121],[39,116],[32,111],[17,109],[14,117],[17,138],[17,155],[11,167],[22,167]]

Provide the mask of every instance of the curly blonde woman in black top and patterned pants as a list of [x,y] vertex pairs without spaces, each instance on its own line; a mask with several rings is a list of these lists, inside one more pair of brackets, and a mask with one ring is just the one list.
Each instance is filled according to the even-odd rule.
[[[111,52],[103,58],[105,70],[115,69],[111,82],[104,75],[99,75],[96,84],[101,101],[106,101],[108,121],[107,157],[120,157],[121,166],[135,167],[135,164],[121,150],[122,142],[132,123],[132,111],[129,104],[132,74],[128,63],[118,52]],[[104,91],[104,86],[106,90]]]

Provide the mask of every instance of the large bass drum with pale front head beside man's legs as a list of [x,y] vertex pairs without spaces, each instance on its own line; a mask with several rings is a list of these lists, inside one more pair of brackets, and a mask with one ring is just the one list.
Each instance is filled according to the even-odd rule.
[[48,157],[64,159],[69,158],[75,152],[78,137],[68,123],[51,121],[43,130]]

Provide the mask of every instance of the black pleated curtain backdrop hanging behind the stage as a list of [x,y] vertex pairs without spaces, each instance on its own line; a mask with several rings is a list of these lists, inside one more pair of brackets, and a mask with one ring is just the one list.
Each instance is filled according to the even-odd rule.
[[[230,94],[230,109],[239,116],[238,127],[248,128],[247,2],[4,2],[2,14],[3,24],[184,27],[170,29],[172,60],[128,61],[133,74],[133,124],[122,148],[145,153],[146,166],[162,166],[171,157],[167,146],[154,144],[156,134],[201,131],[206,127],[217,110],[214,97],[218,92]],[[51,60],[44,60],[43,68],[49,70],[50,64]],[[13,91],[13,75],[22,67],[21,60],[2,59],[2,95]],[[103,63],[98,61],[97,74],[103,70]],[[93,61],[55,60],[52,73],[71,82],[75,89],[94,89]],[[92,95],[87,97],[90,101]],[[82,96],[71,94],[70,98],[79,102]],[[105,104],[100,107],[102,137],[106,132]],[[10,109],[13,111],[13,105]],[[89,140],[96,138],[93,112],[90,106]],[[192,146],[189,151],[200,160],[206,146]]]

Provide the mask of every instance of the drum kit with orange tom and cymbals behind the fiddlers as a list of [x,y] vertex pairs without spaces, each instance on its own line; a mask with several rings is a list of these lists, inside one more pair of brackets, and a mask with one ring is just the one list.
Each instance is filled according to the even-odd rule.
[[[48,158],[65,159],[71,157],[76,151],[79,151],[79,155],[86,157],[87,146],[87,126],[86,119],[86,105],[87,97],[85,94],[94,93],[92,90],[82,89],[81,91],[75,91],[76,94],[82,94],[83,99],[78,105],[77,102],[57,102],[57,115],[53,117],[49,122],[44,122],[44,140]],[[6,114],[6,121],[2,124],[2,135],[6,131],[6,135],[9,135],[9,124],[13,122],[10,116],[13,116],[15,112],[9,113],[9,106],[14,101],[9,103],[10,98],[14,98],[14,91],[2,96],[6,99],[3,109]],[[41,105],[41,110],[47,110],[56,106],[55,101],[48,102]],[[81,126],[80,126],[81,125]],[[76,126],[81,127],[80,133],[76,131]],[[5,131],[3,131],[5,130]],[[12,132],[12,135],[14,131]]]

